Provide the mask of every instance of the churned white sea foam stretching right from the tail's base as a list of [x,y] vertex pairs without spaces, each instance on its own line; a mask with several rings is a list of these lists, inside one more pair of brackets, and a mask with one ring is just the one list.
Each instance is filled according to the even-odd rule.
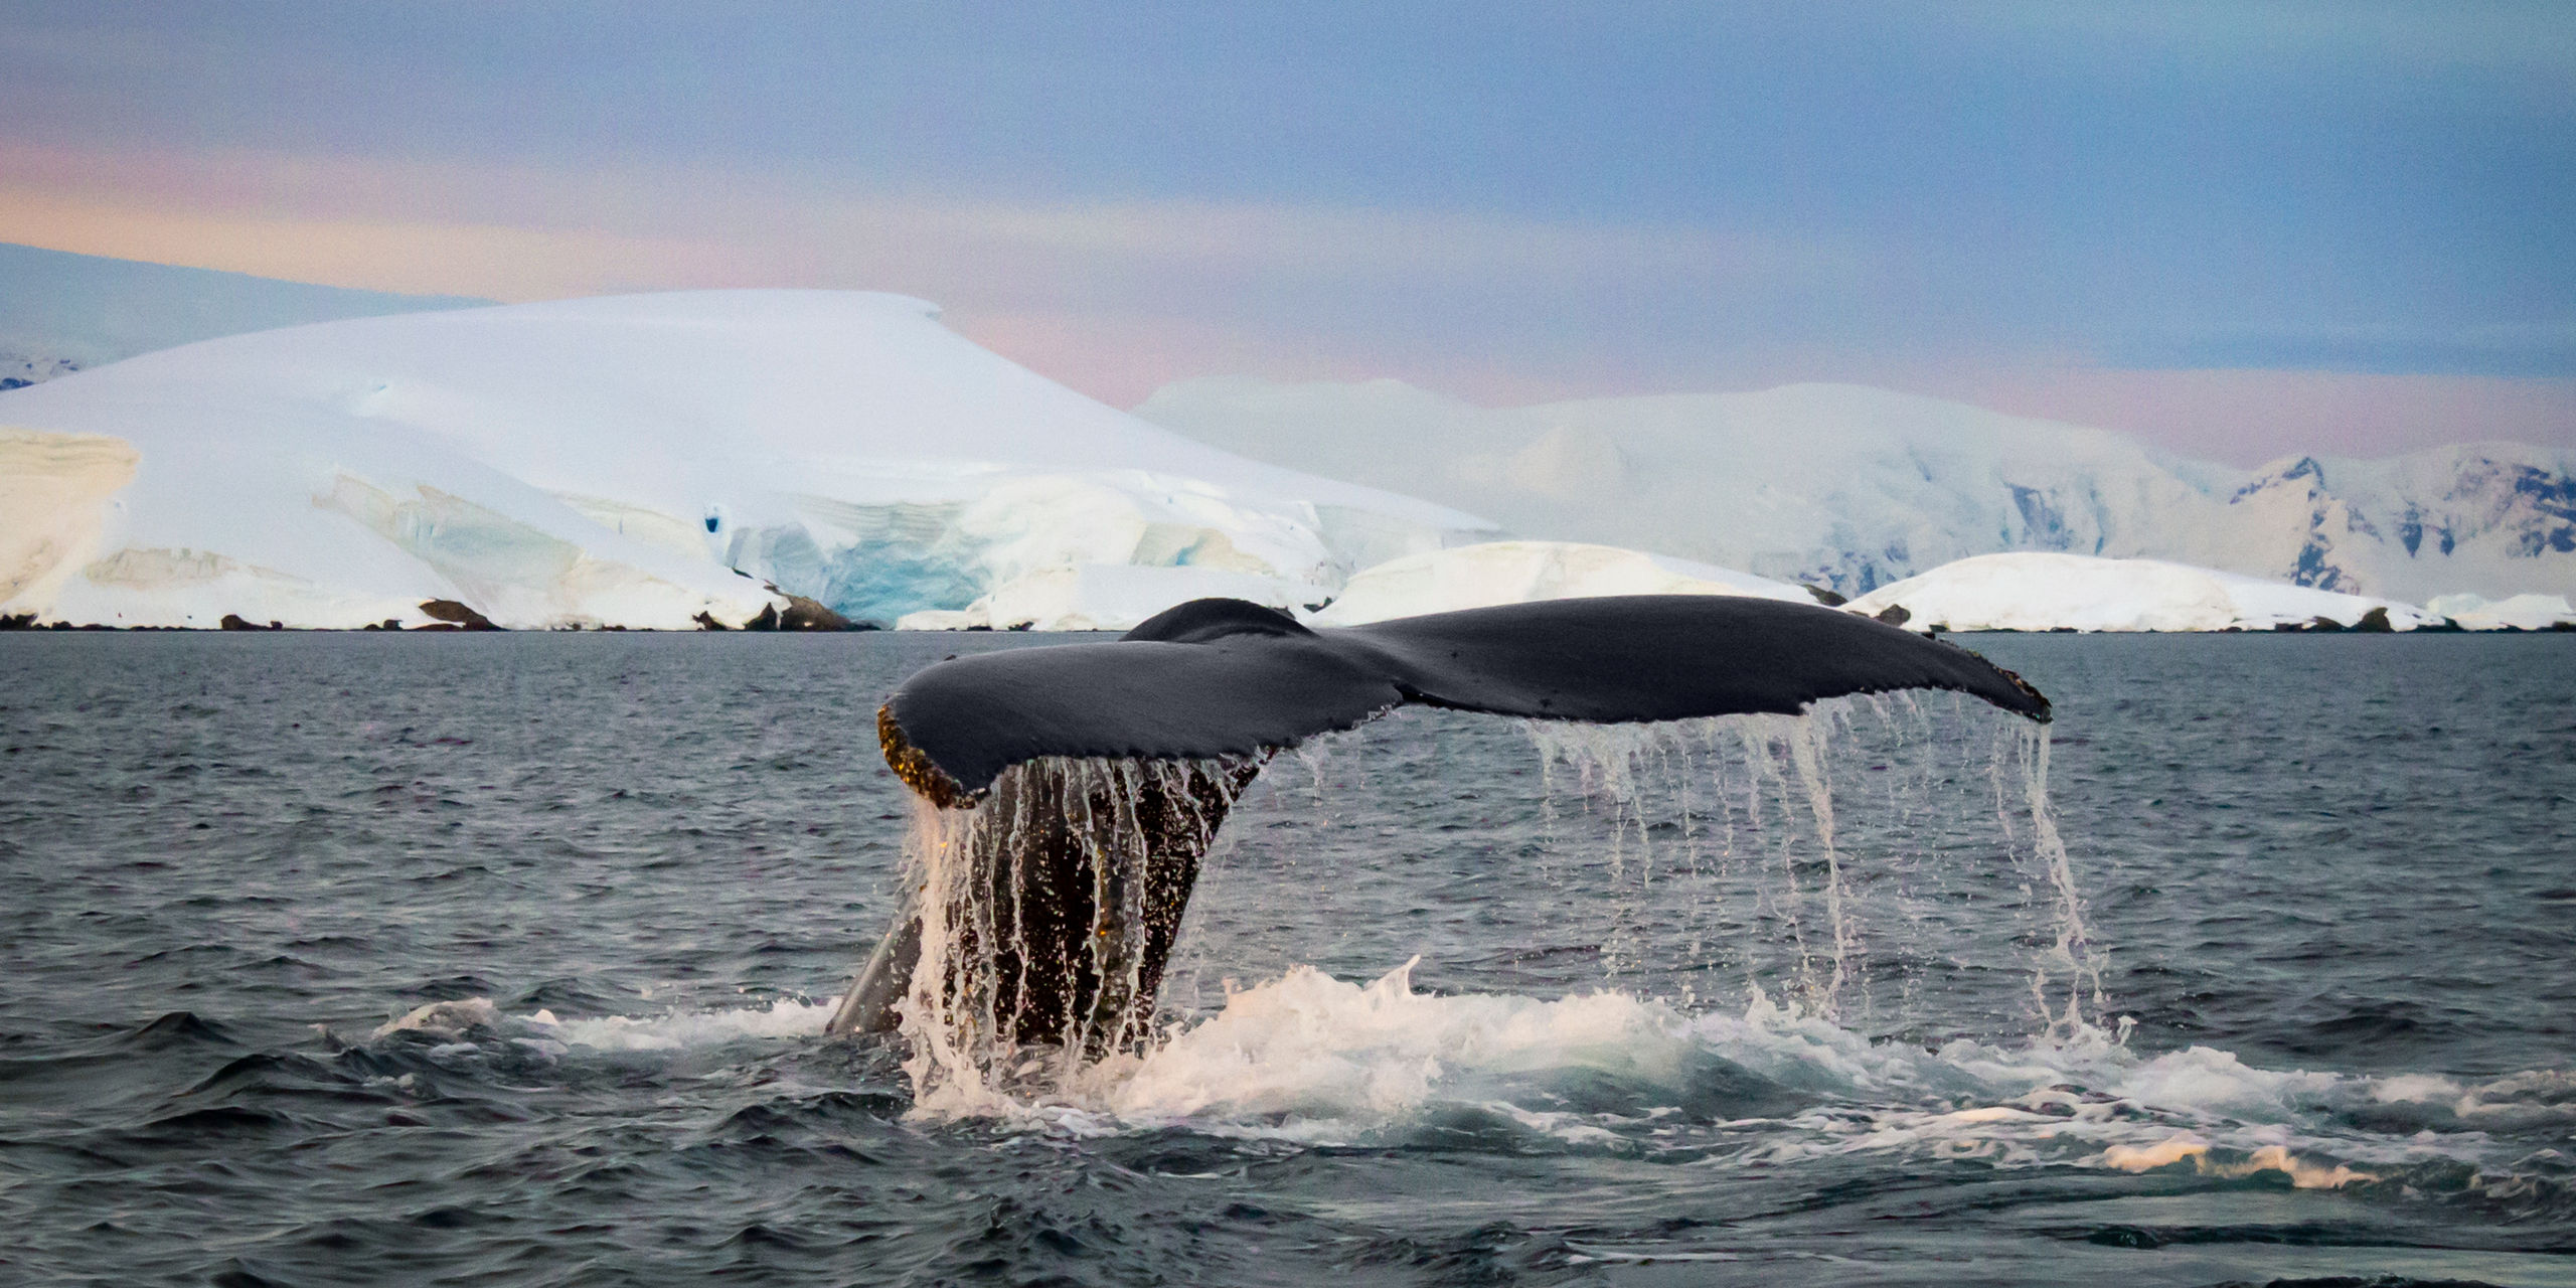
[[[1185,1126],[1298,1144],[1404,1139],[1479,1110],[1569,1149],[1685,1151],[1708,1167],[1893,1154],[1994,1167],[2179,1167],[2213,1177],[2280,1172],[2344,1188],[2406,1167],[2488,1157],[2473,1113],[2561,1113],[2561,1072],[2463,1087],[2424,1077],[2259,1069],[2231,1051],[2130,1051],[2084,1028],[2027,1043],[1870,1041],[1757,999],[1685,1015],[1623,992],[1561,999],[1412,989],[1414,963],[1360,984],[1298,966],[1236,989],[1221,1012],[1141,1056],[1084,1069],[1043,1095],[922,1103],[922,1118],[1007,1118],[1074,1136]],[[1726,1061],[1777,1084],[1770,1118],[1687,1121],[1695,1069]],[[1607,1074],[1605,1108],[1566,1087]],[[2439,1084],[2439,1087],[2434,1087]],[[989,1092],[989,1087],[987,1087]],[[2427,1103],[2424,1131],[2339,1123],[2362,1105]],[[2501,1172],[2496,1172],[2501,1177]]]

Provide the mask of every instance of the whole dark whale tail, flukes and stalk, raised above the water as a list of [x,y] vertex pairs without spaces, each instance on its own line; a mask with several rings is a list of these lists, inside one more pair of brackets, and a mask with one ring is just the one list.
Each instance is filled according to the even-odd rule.
[[[979,927],[948,938],[940,997],[974,994],[992,1033],[1097,1054],[1141,1036],[1198,858],[1278,750],[1404,703],[1633,724],[1788,716],[1904,688],[1947,688],[2048,721],[2048,698],[2020,675],[1855,613],[1620,595],[1324,631],[1244,600],[1193,600],[1105,644],[930,665],[876,724],[886,762],[925,801],[1012,819],[956,842],[971,876],[933,891],[969,904],[943,907],[940,925]],[[1121,811],[1069,762],[1175,770],[1123,781]],[[1113,822],[1136,837],[1103,832]],[[1115,899],[1128,899],[1123,914]],[[994,907],[1010,909],[1007,925]],[[894,1028],[917,943],[912,909],[860,974],[835,1033]]]

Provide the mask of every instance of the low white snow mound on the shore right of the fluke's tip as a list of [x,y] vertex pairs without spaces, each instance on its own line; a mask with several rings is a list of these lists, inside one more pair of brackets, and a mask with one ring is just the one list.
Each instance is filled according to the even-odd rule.
[[1945,631],[2269,631],[2316,618],[2357,626],[2372,611],[2414,631],[2437,616],[2362,595],[2264,582],[2161,559],[2084,554],[1981,554],[1883,585],[1855,613],[1904,608],[1904,626]]

